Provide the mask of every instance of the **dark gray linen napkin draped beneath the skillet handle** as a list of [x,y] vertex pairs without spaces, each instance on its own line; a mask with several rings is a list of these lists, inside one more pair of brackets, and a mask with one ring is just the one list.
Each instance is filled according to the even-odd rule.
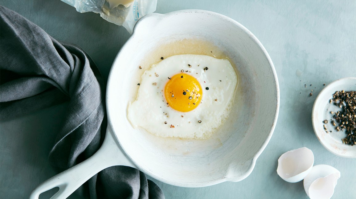
[[[61,44],[0,6],[1,120],[69,100],[49,162],[57,172],[87,159],[105,137],[105,82],[78,46]],[[109,167],[80,187],[84,198],[157,198],[162,190],[131,167]]]

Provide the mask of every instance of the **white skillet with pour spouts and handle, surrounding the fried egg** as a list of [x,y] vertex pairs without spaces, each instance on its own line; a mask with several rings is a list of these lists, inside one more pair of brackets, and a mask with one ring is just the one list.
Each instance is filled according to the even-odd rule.
[[[181,39],[208,40],[221,48],[240,74],[227,121],[205,140],[160,138],[133,129],[127,105],[134,98],[137,68],[152,49]],[[183,10],[142,17],[117,55],[109,76],[108,130],[103,146],[88,160],[48,179],[30,198],[54,187],[66,198],[104,168],[138,168],[159,181],[182,187],[237,182],[253,170],[272,136],[279,110],[279,86],[271,58],[257,38],[229,17]]]

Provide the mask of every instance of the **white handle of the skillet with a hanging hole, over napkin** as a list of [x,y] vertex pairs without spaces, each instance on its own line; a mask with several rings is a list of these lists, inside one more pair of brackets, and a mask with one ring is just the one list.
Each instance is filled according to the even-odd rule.
[[51,197],[51,199],[67,198],[96,173],[116,165],[136,168],[136,166],[122,152],[111,131],[110,125],[108,125],[104,143],[93,156],[40,184],[32,191],[30,199],[38,199],[41,193],[55,187],[58,187],[59,190]]

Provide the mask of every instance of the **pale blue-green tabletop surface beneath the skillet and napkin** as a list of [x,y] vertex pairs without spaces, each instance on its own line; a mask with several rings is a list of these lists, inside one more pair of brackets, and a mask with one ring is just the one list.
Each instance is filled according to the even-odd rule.
[[[78,13],[59,0],[2,0],[0,4],[38,24],[53,38],[81,46],[105,78],[130,36],[125,28],[94,13]],[[356,77],[356,1],[158,0],[156,12],[182,9],[221,13],[255,34],[276,68],[281,105],[273,136],[250,176],[204,188],[156,181],[166,198],[308,198],[302,182],[287,183],[276,173],[278,157],[300,147],[313,151],[315,165],[328,164],[341,172],[333,198],[356,198],[356,159],[324,149],[311,122],[312,106],[323,84]],[[0,198],[27,198],[32,189],[55,174],[47,155],[65,108],[62,104],[1,123]]]

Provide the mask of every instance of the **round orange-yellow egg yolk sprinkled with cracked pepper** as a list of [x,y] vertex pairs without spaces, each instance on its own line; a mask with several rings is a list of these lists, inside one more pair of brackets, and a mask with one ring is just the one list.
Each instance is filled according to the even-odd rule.
[[203,96],[197,79],[189,74],[176,74],[166,83],[164,96],[174,110],[188,112],[194,110]]

